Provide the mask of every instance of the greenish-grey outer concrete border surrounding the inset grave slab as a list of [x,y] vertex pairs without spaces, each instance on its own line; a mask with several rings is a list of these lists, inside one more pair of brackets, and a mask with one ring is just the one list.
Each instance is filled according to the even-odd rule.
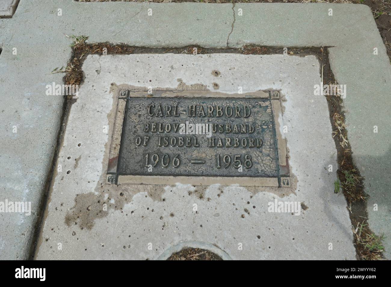
[[[63,16],[57,16],[59,8]],[[147,16],[149,8],[152,16]],[[233,9],[239,8],[244,14],[234,18]],[[334,16],[328,16],[330,8]],[[113,11],[116,17],[112,17]],[[0,235],[2,259],[26,258],[29,253],[34,214],[50,169],[63,106],[63,98],[44,94],[45,85],[62,81],[63,75],[47,73],[70,58],[64,34],[87,35],[90,42],[151,47],[225,47],[227,42],[230,47],[243,43],[333,46],[330,63],[334,75],[348,89],[344,103],[353,157],[370,188],[369,207],[378,203],[378,211],[368,210],[369,223],[374,232],[386,234],[386,257],[390,258],[390,182],[384,174],[389,171],[390,157],[391,67],[367,6],[22,1],[13,18],[0,20],[0,31],[0,67],[4,71],[0,74],[0,94],[7,103],[0,112],[1,195],[10,200],[25,198],[32,202],[33,211],[30,217],[0,214],[0,228],[7,230]],[[333,36],[321,37],[322,31]],[[17,48],[17,55],[13,48]],[[373,48],[378,48],[377,55],[373,55]],[[376,138],[374,125],[379,127]],[[17,134],[12,133],[13,126],[18,127]]]

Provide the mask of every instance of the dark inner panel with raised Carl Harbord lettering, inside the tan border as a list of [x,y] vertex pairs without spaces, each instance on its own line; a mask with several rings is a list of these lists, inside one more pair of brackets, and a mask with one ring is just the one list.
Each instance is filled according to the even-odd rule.
[[271,97],[127,97],[113,174],[264,177],[281,186],[277,146]]

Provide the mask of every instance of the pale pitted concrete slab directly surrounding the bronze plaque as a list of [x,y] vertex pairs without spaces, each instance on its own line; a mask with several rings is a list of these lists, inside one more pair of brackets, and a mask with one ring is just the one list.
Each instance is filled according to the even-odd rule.
[[[213,70],[221,76],[216,79]],[[346,202],[332,193],[336,175],[327,171],[329,164],[336,166],[336,150],[326,99],[313,96],[320,79],[315,56],[91,55],[83,71],[86,79],[59,152],[56,165],[62,171],[50,191],[38,259],[156,259],[191,240],[215,244],[232,259],[355,259]],[[271,88],[285,95],[283,122],[296,189],[199,187],[179,179],[174,186],[106,184],[108,135],[119,96],[115,86],[189,85],[185,89],[194,91],[201,85],[213,90],[213,82],[224,93],[242,86],[244,92]],[[274,200],[295,202],[298,214],[268,212]],[[302,210],[300,202],[309,209]]]

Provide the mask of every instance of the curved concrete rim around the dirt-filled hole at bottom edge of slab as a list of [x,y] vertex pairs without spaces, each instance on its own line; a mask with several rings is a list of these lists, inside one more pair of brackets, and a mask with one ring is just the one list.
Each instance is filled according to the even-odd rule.
[[223,250],[220,248],[214,246],[213,244],[210,244],[209,242],[203,242],[203,241],[186,241],[186,242],[181,242],[179,244],[176,244],[174,246],[171,246],[169,249],[164,251],[162,255],[160,255],[157,260],[167,260],[172,254],[179,252],[181,250],[185,250],[188,248],[199,248],[203,249],[209,252],[212,252],[219,257],[221,257],[222,260],[232,260],[230,255],[225,253]]

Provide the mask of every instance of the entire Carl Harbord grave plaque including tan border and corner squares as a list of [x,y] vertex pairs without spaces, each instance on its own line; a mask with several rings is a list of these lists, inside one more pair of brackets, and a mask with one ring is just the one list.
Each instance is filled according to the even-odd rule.
[[107,182],[289,186],[280,94],[213,95],[120,91]]

